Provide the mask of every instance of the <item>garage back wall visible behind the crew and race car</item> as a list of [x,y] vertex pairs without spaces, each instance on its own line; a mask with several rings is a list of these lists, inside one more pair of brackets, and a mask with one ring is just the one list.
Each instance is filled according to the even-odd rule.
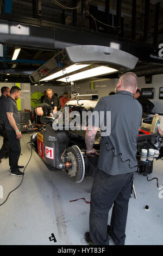
[[[109,79],[105,81],[99,81],[93,83],[93,89],[91,89],[91,83],[81,83],[77,84],[76,89],[77,92],[80,94],[98,94],[99,99],[103,96],[109,95],[110,92],[114,92],[115,86],[118,79]],[[138,88],[148,88],[153,87],[154,88],[154,99],[151,99],[151,101],[154,103],[153,112],[155,113],[161,113],[163,114],[163,100],[159,99],[159,88],[163,87],[163,75],[153,75],[152,77],[152,83],[146,84],[145,77],[139,77],[138,79]],[[11,88],[12,86],[15,86],[16,83],[0,83],[0,89],[3,86],[8,86]],[[30,105],[30,94],[33,92],[37,92],[37,87],[30,86],[30,84],[23,84],[20,83],[20,87],[22,89],[21,92],[21,110],[24,108],[31,109]],[[41,86],[40,92],[44,92],[46,89],[52,88],[53,93],[58,93],[58,95],[62,95],[65,91],[67,91],[70,95],[70,88],[68,86],[65,87],[49,87],[49,86]]]

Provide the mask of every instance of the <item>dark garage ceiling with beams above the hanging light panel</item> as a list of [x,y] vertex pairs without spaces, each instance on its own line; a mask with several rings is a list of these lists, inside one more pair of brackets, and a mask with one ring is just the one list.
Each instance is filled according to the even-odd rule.
[[[137,76],[163,74],[163,57],[158,57],[158,45],[163,42],[162,1],[0,0],[0,7],[0,81],[30,82],[29,75],[61,48],[108,45],[111,40],[121,50],[139,55]],[[20,31],[29,25],[29,35],[4,33],[3,28],[11,30],[12,25]],[[18,46],[20,54],[11,61]]]

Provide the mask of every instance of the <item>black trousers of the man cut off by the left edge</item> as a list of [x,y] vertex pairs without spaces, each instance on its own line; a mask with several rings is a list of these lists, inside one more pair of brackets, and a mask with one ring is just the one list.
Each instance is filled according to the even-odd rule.
[[0,150],[0,159],[3,157],[9,156],[9,139],[7,137],[7,134],[5,132],[5,126],[2,124],[0,125],[0,135],[3,137],[3,145]]

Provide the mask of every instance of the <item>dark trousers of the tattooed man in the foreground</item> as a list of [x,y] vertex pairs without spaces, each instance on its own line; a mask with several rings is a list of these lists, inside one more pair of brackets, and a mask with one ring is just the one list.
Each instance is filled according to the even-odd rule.
[[94,245],[109,245],[107,224],[113,204],[111,237],[116,245],[124,245],[132,180],[133,173],[109,175],[97,170],[90,204],[90,236]]

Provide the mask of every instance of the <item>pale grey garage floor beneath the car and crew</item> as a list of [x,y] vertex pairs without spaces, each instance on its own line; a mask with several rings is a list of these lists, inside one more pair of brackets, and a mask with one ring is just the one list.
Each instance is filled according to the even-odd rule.
[[[29,141],[30,135],[24,133],[19,162],[24,166],[30,157]],[[163,184],[162,163],[163,160],[156,161],[149,175],[149,178],[159,178],[159,185]],[[9,174],[8,159],[2,160],[0,170],[2,204],[22,177]],[[77,184],[64,172],[51,172],[33,150],[22,185],[0,206],[0,245],[86,245],[84,233],[89,230],[90,205],[84,200],[72,203],[70,200],[84,197],[90,201],[92,181],[86,178]],[[163,188],[158,190],[156,180],[148,182],[137,173],[134,186],[137,199],[132,195],[129,202],[126,245],[163,245]],[[146,205],[149,211],[144,209]],[[110,215],[111,212],[108,223]],[[52,233],[55,243],[49,241]],[[110,245],[114,245],[112,240]]]

